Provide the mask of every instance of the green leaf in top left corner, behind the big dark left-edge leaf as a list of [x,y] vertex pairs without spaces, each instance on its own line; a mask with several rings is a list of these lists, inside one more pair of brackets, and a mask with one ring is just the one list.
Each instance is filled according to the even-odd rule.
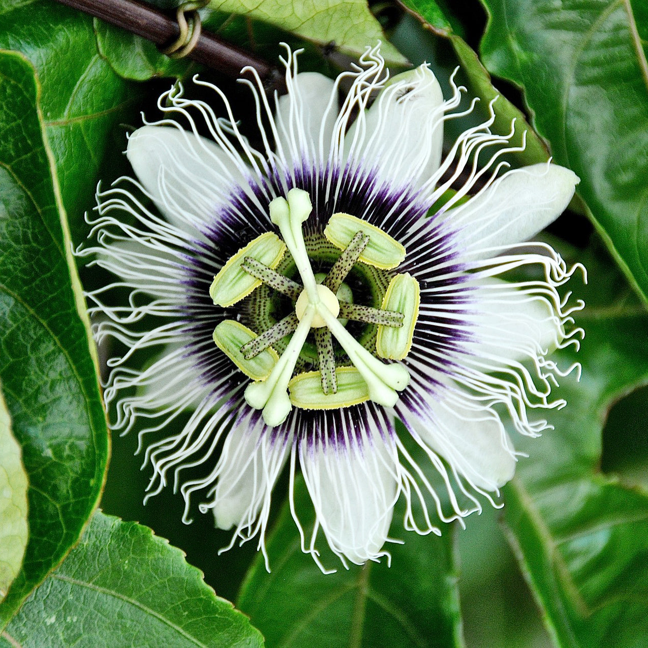
[[41,84],[41,113],[73,232],[94,206],[98,170],[110,134],[128,122],[140,90],[97,51],[92,18],[51,1],[0,6],[0,49],[21,52]]

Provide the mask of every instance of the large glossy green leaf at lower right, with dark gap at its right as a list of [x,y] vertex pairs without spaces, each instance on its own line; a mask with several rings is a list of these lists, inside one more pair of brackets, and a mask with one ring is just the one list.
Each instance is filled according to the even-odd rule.
[[648,315],[612,266],[580,257],[590,270],[590,288],[577,290],[588,302],[576,316],[586,337],[579,354],[559,355],[564,365],[579,360],[583,375],[552,393],[567,400],[548,415],[555,430],[516,441],[531,458],[504,489],[504,519],[557,645],[639,648],[648,636],[648,494],[598,465],[610,406],[648,383]]

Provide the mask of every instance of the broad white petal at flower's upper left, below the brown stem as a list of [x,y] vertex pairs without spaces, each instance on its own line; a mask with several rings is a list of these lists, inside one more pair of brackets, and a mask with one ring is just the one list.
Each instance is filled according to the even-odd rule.
[[172,224],[192,231],[213,216],[243,175],[216,143],[174,126],[143,126],[128,138],[137,178]]

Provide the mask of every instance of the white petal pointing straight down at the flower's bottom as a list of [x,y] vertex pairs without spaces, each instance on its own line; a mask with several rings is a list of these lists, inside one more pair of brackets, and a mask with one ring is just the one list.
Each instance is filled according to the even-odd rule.
[[330,548],[351,562],[376,559],[397,498],[395,450],[382,439],[301,450],[301,469]]

